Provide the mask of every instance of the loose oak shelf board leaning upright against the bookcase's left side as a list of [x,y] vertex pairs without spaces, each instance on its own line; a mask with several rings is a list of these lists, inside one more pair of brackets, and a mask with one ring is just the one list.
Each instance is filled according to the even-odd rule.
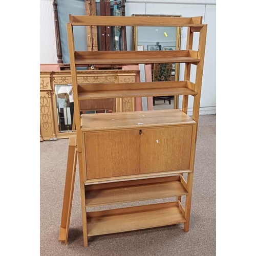
[[69,153],[67,162],[66,181],[62,205],[59,241],[68,243],[69,223],[74,194],[75,174],[77,162],[76,137],[69,138]]

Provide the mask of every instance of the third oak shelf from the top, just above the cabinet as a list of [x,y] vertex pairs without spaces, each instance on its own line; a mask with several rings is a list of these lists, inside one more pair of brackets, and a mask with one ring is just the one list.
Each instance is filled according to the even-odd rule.
[[78,99],[197,95],[189,81],[79,84]]

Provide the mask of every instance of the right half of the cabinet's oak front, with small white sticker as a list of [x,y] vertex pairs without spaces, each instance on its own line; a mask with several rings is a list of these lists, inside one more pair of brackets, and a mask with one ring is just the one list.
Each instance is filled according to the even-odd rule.
[[193,126],[143,129],[140,173],[189,169]]

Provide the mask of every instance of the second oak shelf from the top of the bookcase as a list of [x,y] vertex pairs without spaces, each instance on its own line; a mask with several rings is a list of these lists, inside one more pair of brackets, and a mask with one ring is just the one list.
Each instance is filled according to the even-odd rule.
[[83,51],[75,52],[76,65],[98,64],[146,64],[146,63],[194,63],[200,62],[198,52],[177,51]]

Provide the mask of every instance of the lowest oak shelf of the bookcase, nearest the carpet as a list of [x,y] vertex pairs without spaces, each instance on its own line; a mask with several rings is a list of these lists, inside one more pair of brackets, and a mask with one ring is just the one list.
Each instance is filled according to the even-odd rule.
[[179,201],[88,212],[88,236],[185,223]]

